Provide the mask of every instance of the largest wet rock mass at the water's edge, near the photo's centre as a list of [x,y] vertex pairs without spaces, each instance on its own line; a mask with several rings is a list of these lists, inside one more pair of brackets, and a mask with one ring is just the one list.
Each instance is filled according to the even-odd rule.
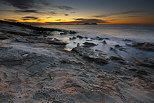
[[73,48],[72,51],[77,52],[80,56],[83,58],[93,61],[95,63],[99,64],[107,64],[109,61],[109,57],[105,55],[104,53],[96,54],[92,49],[86,48],[86,47],[76,47]]

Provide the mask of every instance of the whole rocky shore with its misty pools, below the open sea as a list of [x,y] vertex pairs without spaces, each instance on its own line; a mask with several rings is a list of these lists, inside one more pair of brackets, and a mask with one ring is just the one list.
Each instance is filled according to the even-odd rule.
[[153,43],[0,21],[0,103],[153,102]]

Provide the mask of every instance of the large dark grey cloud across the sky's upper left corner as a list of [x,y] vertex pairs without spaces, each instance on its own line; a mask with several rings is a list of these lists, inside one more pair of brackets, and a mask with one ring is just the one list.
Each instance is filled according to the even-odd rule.
[[[53,0],[2,0],[3,4],[12,5],[21,12],[36,13],[36,11],[31,10],[32,8],[50,8],[50,9],[62,9],[62,10],[73,10],[74,8],[66,5],[55,5],[52,3]],[[30,9],[30,10],[29,10]],[[23,10],[23,11],[22,11]]]

